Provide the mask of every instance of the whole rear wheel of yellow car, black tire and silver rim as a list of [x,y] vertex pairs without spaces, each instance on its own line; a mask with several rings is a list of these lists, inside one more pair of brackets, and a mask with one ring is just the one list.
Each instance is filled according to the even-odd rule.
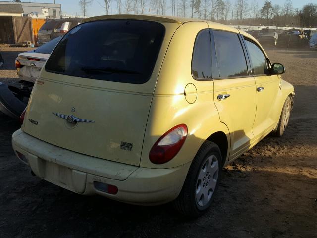
[[218,188],[221,168],[219,147],[205,141],[189,168],[179,196],[173,202],[174,208],[188,217],[198,217],[206,212]]

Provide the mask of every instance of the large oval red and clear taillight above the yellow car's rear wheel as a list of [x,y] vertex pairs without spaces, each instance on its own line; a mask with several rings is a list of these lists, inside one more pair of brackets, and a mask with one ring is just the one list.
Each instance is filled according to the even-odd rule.
[[153,145],[149,157],[154,164],[164,164],[175,157],[182,148],[187,137],[187,126],[185,124],[176,125]]

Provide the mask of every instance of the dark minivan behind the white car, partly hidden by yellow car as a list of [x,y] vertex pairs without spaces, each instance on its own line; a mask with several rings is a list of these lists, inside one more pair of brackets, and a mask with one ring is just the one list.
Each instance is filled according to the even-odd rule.
[[38,45],[40,46],[58,36],[65,35],[70,29],[80,24],[82,20],[82,18],[48,20],[38,31]]

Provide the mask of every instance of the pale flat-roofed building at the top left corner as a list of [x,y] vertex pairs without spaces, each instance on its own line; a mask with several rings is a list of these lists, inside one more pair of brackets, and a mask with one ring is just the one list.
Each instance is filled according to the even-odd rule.
[[[34,2],[9,2],[9,1],[0,1],[0,4],[11,5],[12,6],[11,8],[13,9],[17,7],[16,5],[21,5],[24,11],[23,14],[25,15],[31,12],[38,12],[39,14],[43,14],[46,18],[50,18],[50,19],[59,19],[61,18],[61,15],[62,15],[61,4],[34,3]],[[1,12],[0,12],[0,15],[1,15]],[[19,16],[21,16],[21,14]]]

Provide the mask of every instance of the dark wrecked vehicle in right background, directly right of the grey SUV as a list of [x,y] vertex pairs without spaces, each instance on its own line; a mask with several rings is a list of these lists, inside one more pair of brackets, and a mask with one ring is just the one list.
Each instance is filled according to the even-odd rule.
[[304,47],[307,46],[307,36],[301,29],[285,30],[278,35],[277,45],[280,47]]

